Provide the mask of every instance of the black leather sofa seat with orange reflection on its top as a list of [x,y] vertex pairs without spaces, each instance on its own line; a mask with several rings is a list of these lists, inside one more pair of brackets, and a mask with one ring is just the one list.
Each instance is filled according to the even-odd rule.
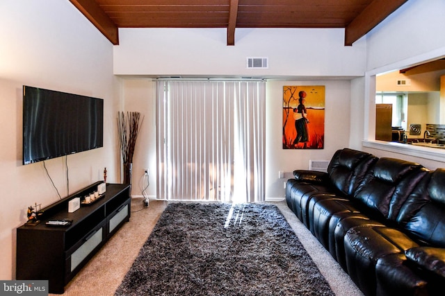
[[375,295],[375,265],[389,254],[403,254],[419,246],[403,232],[390,227],[353,227],[344,238],[348,275],[366,295]]

